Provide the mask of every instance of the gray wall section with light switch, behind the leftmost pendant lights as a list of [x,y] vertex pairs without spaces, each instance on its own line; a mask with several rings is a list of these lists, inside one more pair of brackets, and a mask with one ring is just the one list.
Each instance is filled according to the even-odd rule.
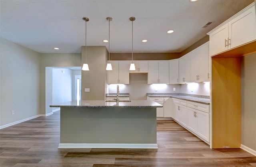
[[[90,71],[82,71],[82,100],[104,100],[107,89],[107,57],[108,52],[105,46],[87,47],[86,63]],[[84,46],[82,46],[82,63],[85,63]],[[90,92],[84,92],[84,88],[90,88]]]

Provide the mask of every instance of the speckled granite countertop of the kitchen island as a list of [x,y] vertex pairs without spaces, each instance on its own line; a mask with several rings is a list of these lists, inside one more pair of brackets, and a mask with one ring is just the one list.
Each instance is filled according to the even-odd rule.
[[50,107],[74,107],[74,108],[157,108],[161,104],[151,100],[131,100],[131,102],[105,102],[104,100],[74,100]]

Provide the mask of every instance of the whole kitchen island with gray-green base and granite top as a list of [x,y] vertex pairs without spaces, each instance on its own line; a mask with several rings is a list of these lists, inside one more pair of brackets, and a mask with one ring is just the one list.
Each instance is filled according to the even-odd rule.
[[60,107],[58,148],[152,148],[156,143],[156,108],[149,100],[71,101]]

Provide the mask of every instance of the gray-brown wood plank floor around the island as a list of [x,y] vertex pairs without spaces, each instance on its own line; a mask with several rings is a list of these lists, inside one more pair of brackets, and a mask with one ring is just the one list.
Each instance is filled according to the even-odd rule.
[[58,149],[60,112],[0,130],[0,167],[244,167],[242,149],[210,149],[174,121],[157,122],[159,149]]

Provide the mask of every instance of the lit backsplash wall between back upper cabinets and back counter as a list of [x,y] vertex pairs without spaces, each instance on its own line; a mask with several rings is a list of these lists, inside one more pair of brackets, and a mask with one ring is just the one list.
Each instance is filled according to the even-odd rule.
[[[148,75],[130,73],[130,84],[122,84],[120,93],[130,93],[131,100],[147,100],[146,93],[179,93],[180,84],[147,84]],[[176,88],[176,91],[173,91]],[[157,89],[157,91],[155,91]],[[108,86],[109,93],[116,93],[116,84]]]

